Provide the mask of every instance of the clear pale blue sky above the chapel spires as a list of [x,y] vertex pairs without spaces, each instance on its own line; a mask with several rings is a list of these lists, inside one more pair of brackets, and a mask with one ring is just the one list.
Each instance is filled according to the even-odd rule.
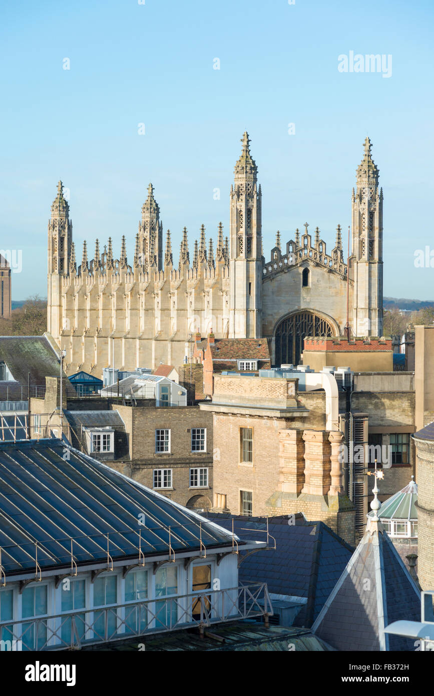
[[[385,295],[434,300],[434,268],[414,265],[416,249],[434,250],[433,17],[429,0],[3,3],[0,248],[22,250],[13,299],[47,296],[59,178],[79,261],[83,239],[93,254],[111,235],[119,255],[124,234],[131,262],[150,181],[176,262],[184,225],[191,250],[202,223],[215,242],[247,129],[266,257],[277,229],[287,242],[307,221],[334,242],[348,226],[369,134]],[[392,77],[339,72],[350,51],[392,54]]]

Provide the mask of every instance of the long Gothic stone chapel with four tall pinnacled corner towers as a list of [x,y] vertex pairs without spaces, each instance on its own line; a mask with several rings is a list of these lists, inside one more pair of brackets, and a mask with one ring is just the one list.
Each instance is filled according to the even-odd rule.
[[[111,238],[88,258],[83,244],[77,265],[72,221],[63,184],[48,224],[48,326],[65,348],[67,374],[103,367],[120,369],[181,365],[191,350],[190,335],[266,338],[271,362],[300,361],[305,336],[337,336],[347,322],[351,335],[383,333],[383,191],[371,142],[364,141],[352,203],[352,253],[344,262],[341,227],[330,253],[319,228],[296,230],[285,246],[276,235],[270,260],[262,251],[261,186],[243,134],[241,157],[230,191],[229,238],[218,225],[217,244],[205,230],[188,249],[184,228],[179,263],[170,230],[163,249],[163,223],[152,184],[142,207],[133,263],[125,237],[120,258]],[[313,238],[312,238],[313,237]]]

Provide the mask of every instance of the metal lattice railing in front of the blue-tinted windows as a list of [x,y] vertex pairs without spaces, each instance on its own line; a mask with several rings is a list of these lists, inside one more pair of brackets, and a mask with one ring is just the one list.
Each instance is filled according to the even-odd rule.
[[0,643],[24,651],[80,649],[197,626],[273,615],[266,583],[204,590],[37,619],[0,622]]

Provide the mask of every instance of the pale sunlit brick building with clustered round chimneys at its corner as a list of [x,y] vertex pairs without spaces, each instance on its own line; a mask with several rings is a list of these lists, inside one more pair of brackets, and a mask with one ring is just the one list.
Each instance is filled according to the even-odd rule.
[[[248,516],[303,512],[348,543],[355,507],[344,493],[343,434],[325,430],[325,394],[297,379],[214,377],[214,509]],[[336,392],[337,394],[337,392]]]

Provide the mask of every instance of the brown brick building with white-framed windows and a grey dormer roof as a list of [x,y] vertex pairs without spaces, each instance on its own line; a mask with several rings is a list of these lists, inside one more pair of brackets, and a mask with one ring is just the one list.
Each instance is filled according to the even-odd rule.
[[[66,383],[67,380],[65,379]],[[156,406],[113,398],[79,399],[47,377],[45,397],[31,399],[32,437],[60,436],[82,452],[176,503],[209,509],[213,485],[213,419],[198,406]]]

